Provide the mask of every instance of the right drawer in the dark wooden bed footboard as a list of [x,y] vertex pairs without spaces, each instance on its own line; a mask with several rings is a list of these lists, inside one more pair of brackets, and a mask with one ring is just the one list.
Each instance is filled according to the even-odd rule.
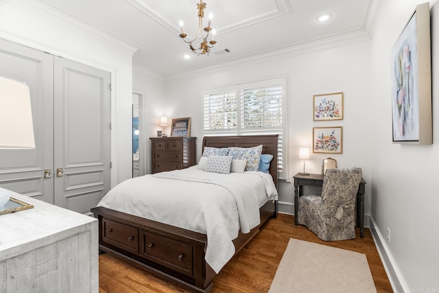
[[192,246],[161,235],[143,231],[141,255],[170,266],[178,272],[192,275]]

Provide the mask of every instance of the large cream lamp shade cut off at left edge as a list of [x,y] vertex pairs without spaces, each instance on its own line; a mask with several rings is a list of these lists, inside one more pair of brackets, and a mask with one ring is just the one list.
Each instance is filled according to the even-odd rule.
[[3,76],[0,76],[0,148],[35,148],[29,86]]

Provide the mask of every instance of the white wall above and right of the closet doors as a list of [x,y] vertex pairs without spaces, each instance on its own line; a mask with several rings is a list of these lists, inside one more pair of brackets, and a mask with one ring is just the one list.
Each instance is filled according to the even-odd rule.
[[0,0],[0,38],[111,73],[112,186],[130,177],[132,54],[137,48],[88,30],[36,1]]

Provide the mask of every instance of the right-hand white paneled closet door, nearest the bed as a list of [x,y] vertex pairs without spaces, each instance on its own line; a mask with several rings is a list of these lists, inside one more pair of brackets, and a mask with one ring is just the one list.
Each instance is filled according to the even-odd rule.
[[55,204],[89,213],[110,189],[110,73],[55,57]]

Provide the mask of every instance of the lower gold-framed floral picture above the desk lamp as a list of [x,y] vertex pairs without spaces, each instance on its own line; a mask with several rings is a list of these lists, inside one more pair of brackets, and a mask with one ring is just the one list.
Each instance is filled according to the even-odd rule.
[[321,154],[342,154],[342,126],[313,127],[313,152]]

